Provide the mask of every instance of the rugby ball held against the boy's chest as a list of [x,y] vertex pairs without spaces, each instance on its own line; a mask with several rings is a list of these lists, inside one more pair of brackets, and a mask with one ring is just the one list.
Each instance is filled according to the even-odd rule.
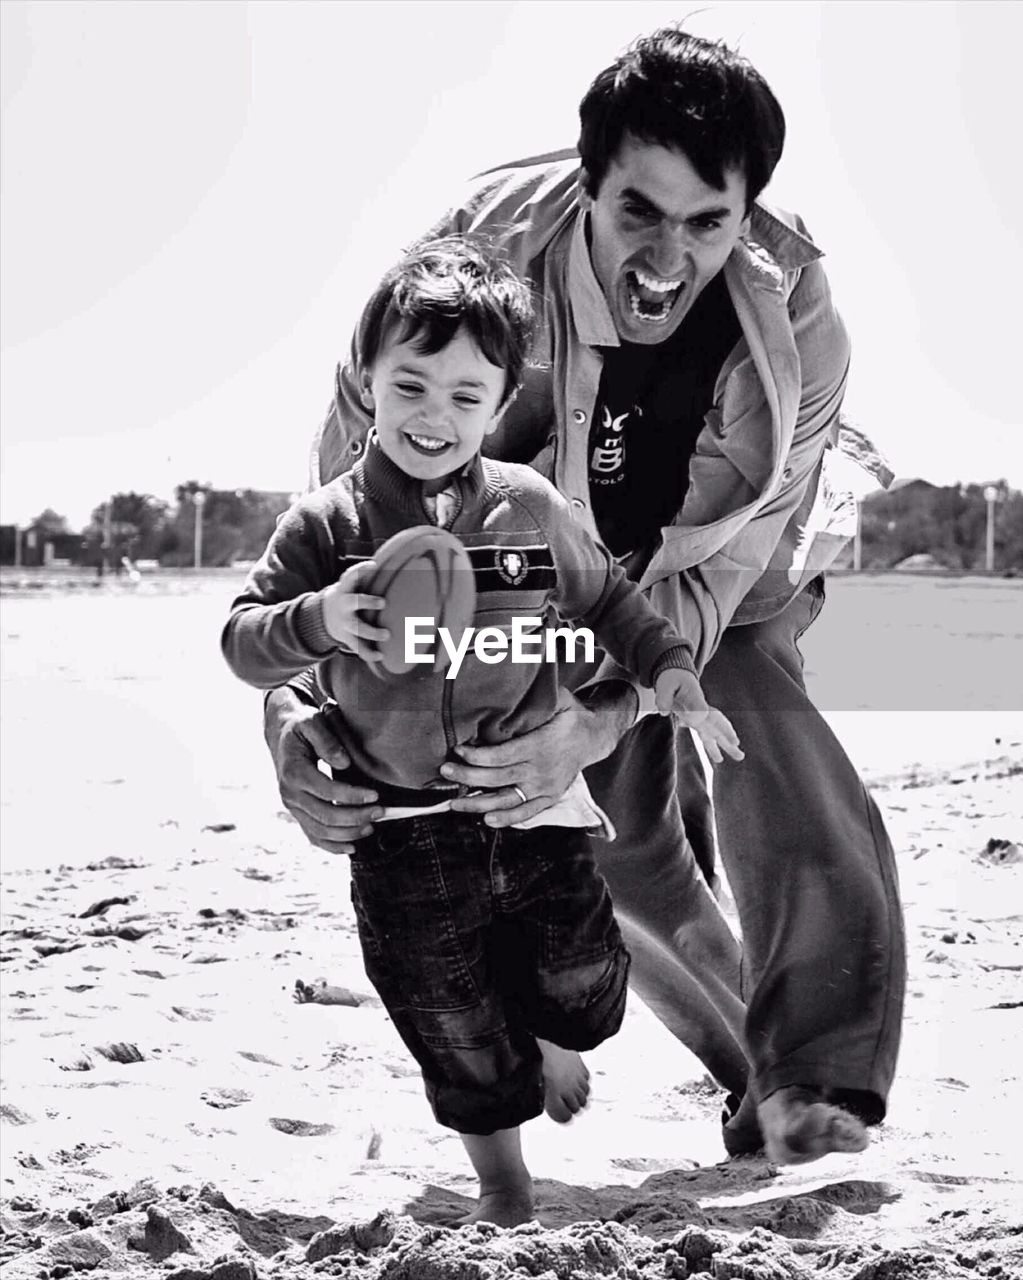
[[[476,582],[465,547],[446,529],[417,525],[388,538],[373,559],[376,572],[365,590],[383,596],[384,607],[373,621],[389,632],[380,645],[382,666],[396,676],[414,669],[443,671],[451,659],[437,628],[447,627],[457,644],[476,612]],[[417,628],[419,636],[431,637],[419,652],[434,652],[433,667],[406,660],[406,618],[433,618],[433,628]]]

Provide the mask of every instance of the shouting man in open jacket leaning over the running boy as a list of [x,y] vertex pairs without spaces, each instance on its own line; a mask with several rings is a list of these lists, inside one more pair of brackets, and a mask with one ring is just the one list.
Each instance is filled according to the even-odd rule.
[[[539,367],[489,452],[553,476],[695,637],[707,698],[739,731],[745,763],[714,771],[713,799],[741,954],[682,829],[680,786],[708,873],[689,735],[638,719],[647,708],[617,673],[586,687],[580,673],[549,724],[463,748],[446,773],[485,788],[458,808],[501,827],[586,768],[618,832],[598,858],[634,986],[730,1092],[729,1151],[859,1151],[895,1069],[901,916],[880,815],[807,698],[796,648],[844,540],[826,463],[851,442],[839,424],[848,338],[803,224],[758,204],[785,123],[745,59],[654,32],[597,77],[580,120],[577,157],[484,174],[437,230],[487,237],[533,282],[544,319]],[[355,360],[338,371],[314,483],[362,452],[358,378]],[[306,835],[350,851],[375,796],[316,771],[316,758],[347,763],[334,714],[278,691],[266,736]],[[577,1101],[577,1068],[566,1071]]]

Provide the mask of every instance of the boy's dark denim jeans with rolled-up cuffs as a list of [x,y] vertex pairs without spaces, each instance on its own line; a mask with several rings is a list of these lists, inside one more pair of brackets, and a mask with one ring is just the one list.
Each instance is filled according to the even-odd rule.
[[621,1025],[629,954],[577,829],[382,822],[356,845],[352,904],[366,974],[451,1129],[531,1120],[536,1037],[585,1050]]

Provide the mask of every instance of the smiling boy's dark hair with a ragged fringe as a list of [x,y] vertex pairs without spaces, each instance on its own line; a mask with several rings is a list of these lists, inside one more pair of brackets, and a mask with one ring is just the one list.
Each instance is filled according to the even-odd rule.
[[522,381],[533,343],[533,300],[512,269],[461,236],[420,241],[376,285],[358,332],[358,360],[373,369],[384,340],[443,351],[460,329],[506,372],[502,403]]

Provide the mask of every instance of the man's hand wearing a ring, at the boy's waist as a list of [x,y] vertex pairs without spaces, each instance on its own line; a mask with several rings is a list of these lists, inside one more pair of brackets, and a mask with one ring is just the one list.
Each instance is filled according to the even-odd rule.
[[624,682],[594,686],[588,703],[562,689],[545,724],[497,746],[460,746],[466,763],[440,767],[446,778],[484,791],[453,800],[452,809],[487,814],[490,827],[534,818],[561,799],[580,769],[615,750],[635,714],[635,690]]

